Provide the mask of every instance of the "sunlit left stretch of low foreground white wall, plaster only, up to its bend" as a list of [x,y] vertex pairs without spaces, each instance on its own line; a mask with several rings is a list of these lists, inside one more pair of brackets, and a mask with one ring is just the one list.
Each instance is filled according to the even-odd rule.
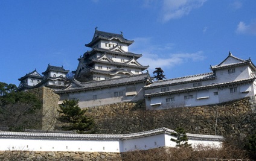
[[4,139],[0,150],[120,152],[122,140]]

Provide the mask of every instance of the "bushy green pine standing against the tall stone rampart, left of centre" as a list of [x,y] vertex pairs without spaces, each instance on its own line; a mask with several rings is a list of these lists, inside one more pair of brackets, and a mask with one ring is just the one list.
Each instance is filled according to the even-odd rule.
[[94,133],[94,119],[86,116],[87,110],[78,107],[78,100],[64,100],[59,105],[61,114],[59,120],[63,122],[62,130],[75,130],[77,133]]

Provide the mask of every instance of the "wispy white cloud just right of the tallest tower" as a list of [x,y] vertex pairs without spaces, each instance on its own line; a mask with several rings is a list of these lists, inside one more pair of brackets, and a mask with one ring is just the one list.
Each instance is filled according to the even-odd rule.
[[182,65],[189,61],[198,62],[205,59],[203,51],[177,52],[174,51],[175,45],[173,43],[155,45],[150,37],[140,37],[134,40],[135,43],[129,50],[143,55],[138,61],[142,65],[149,65],[150,73],[158,67],[171,69],[173,66]]

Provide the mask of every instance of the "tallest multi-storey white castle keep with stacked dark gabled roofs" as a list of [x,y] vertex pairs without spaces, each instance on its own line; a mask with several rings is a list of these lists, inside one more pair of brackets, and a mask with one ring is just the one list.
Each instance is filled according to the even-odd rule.
[[75,78],[79,81],[107,80],[142,74],[149,66],[137,62],[141,54],[129,52],[133,40],[124,39],[123,33],[114,34],[95,30],[92,41],[86,44],[91,51],[78,58]]

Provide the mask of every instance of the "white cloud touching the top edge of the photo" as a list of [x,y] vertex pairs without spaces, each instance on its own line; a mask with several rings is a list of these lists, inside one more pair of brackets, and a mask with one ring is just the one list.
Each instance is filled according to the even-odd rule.
[[164,0],[162,4],[161,19],[167,22],[171,19],[179,19],[190,13],[194,8],[199,8],[206,0]]

